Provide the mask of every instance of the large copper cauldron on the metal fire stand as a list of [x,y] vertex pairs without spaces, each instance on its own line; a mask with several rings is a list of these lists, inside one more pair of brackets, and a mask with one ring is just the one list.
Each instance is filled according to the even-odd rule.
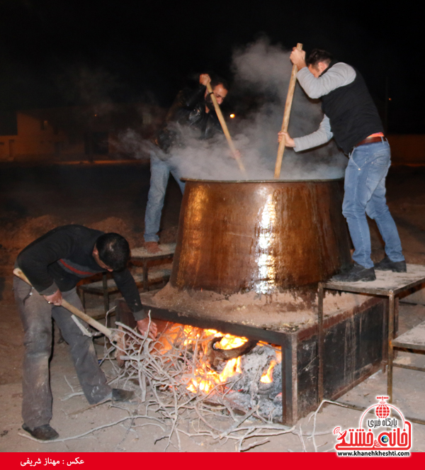
[[188,179],[171,286],[273,293],[348,267],[341,180]]

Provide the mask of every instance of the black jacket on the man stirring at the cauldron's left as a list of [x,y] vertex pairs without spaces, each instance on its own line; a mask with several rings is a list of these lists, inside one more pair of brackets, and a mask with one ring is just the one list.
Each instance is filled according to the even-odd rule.
[[196,130],[200,139],[208,139],[221,130],[214,110],[205,111],[205,86],[179,91],[166,115],[164,125],[154,137],[154,143],[167,152],[171,145],[179,143],[179,126]]

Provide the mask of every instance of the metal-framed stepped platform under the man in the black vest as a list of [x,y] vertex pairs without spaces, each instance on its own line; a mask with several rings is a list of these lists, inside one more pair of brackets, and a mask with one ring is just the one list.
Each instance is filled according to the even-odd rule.
[[[357,282],[341,282],[328,281],[320,282],[318,290],[318,326],[319,326],[319,379],[318,379],[318,397],[319,403],[324,399],[323,393],[323,351],[324,351],[324,319],[323,319],[323,298],[325,290],[365,293],[370,296],[382,296],[388,298],[388,348],[387,348],[387,396],[390,397],[389,403],[392,403],[392,368],[405,367],[399,364],[393,364],[394,348],[408,348],[413,350],[425,350],[425,325],[421,324],[409,330],[409,332],[395,338],[395,313],[396,300],[402,293],[409,291],[416,286],[425,283],[425,266],[421,264],[407,264],[406,273],[395,273],[388,271],[376,271],[375,281],[357,281]],[[425,323],[425,322],[424,322]],[[421,327],[421,328],[420,328]],[[420,331],[418,330],[420,329]],[[423,332],[423,340],[418,340],[420,333]],[[424,370],[415,368],[415,370]],[[341,403],[341,402],[339,402]],[[342,403],[341,403],[342,404]],[[349,403],[344,405],[350,406]],[[351,405],[350,408],[356,410],[364,410],[361,407]],[[425,425],[425,420],[416,418],[407,418],[414,423]]]

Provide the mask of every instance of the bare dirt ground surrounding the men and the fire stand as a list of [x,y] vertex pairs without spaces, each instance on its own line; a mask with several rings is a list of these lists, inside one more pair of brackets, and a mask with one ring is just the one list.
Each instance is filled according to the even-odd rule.
[[[387,180],[387,198],[402,239],[407,262],[425,264],[425,168],[395,167]],[[21,362],[23,334],[11,291],[11,271],[18,252],[50,228],[66,223],[81,223],[101,230],[113,230],[128,237],[132,247],[142,242],[143,220],[149,165],[147,162],[120,164],[73,164],[52,166],[2,165],[0,171],[0,451],[1,452],[163,452],[166,440],[158,440],[163,431],[145,423],[131,427],[131,417],[140,412],[140,403],[111,405],[103,403],[87,408],[66,343],[58,343],[51,362],[51,386],[54,396],[51,422],[63,442],[40,443],[28,439],[21,429]],[[181,194],[171,179],[162,219],[162,242],[176,239]],[[382,241],[371,224],[373,257],[383,256]],[[88,309],[102,309],[100,296],[89,296]],[[425,320],[425,306],[400,304],[402,332]],[[98,356],[103,345],[97,344]],[[424,356],[403,352],[399,361],[424,367]],[[112,369],[105,364],[106,374]],[[421,372],[395,369],[395,405],[406,416],[425,419],[424,379]],[[379,371],[341,399],[356,405],[375,403],[385,393],[386,375]],[[74,393],[77,393],[74,395]],[[317,414],[316,444],[318,452],[332,451],[332,430],[336,426],[356,427],[361,413],[328,405]],[[296,428],[312,432],[312,420],[302,418]],[[119,422],[84,434],[96,427]],[[141,423],[142,424],[142,423]],[[191,422],[187,423],[188,430]],[[207,437],[181,437],[186,452],[235,452],[231,440]],[[425,427],[414,425],[415,452],[425,452]],[[175,451],[171,445],[167,452]],[[314,443],[293,433],[271,437],[251,452],[314,451]]]

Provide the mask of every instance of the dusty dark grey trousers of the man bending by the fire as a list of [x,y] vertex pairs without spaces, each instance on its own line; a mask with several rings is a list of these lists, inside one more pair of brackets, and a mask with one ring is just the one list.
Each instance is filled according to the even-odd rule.
[[[52,418],[49,362],[52,353],[52,318],[68,343],[79,383],[90,404],[111,394],[106,376],[98,365],[91,337],[81,332],[72,320],[72,313],[61,306],[47,303],[43,296],[15,276],[13,290],[23,323],[25,355],[23,359],[22,418],[34,429]],[[77,289],[62,292],[62,297],[82,310]],[[83,320],[78,320],[85,327]]]

